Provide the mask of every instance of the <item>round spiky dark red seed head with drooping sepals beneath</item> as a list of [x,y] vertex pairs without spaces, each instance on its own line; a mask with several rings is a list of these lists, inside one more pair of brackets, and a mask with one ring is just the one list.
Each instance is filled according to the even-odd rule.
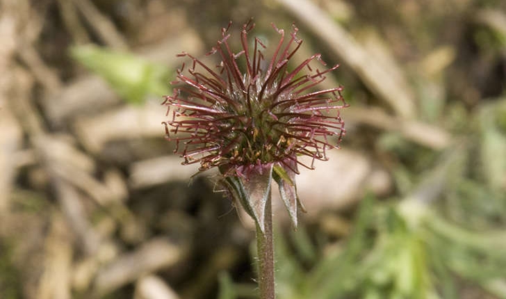
[[[230,24],[229,24],[230,27]],[[279,184],[293,225],[297,225],[295,175],[297,165],[313,169],[298,156],[327,160],[327,150],[338,147],[344,130],[339,110],[348,106],[338,86],[318,90],[334,67],[318,70],[315,54],[291,68],[302,40],[297,28],[280,38],[270,58],[259,38],[248,40],[249,22],[240,32],[242,49],[231,50],[229,27],[208,55],[220,63],[211,67],[183,53],[191,63],[177,72],[174,93],[165,97],[170,120],[164,122],[168,140],[183,164],[200,163],[199,170],[217,167],[229,195],[241,202],[262,228],[271,181]]]

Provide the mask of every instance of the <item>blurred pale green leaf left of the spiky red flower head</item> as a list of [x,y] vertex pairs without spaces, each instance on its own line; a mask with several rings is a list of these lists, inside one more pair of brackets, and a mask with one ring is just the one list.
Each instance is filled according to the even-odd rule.
[[142,104],[147,95],[160,96],[169,91],[170,70],[164,65],[95,45],[72,47],[70,54],[131,104]]

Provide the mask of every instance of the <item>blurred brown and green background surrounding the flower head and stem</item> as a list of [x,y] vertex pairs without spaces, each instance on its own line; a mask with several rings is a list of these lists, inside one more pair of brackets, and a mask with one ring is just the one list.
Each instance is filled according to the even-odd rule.
[[0,298],[256,298],[251,223],[161,124],[176,54],[250,17],[351,104],[297,231],[275,200],[279,299],[506,298],[501,0],[0,0]]

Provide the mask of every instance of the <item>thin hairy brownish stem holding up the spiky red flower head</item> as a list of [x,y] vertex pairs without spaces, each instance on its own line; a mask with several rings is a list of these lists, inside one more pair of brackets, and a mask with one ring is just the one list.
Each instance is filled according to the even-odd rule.
[[275,299],[274,242],[272,236],[272,207],[270,194],[266,203],[265,232],[256,225],[256,248],[259,258],[259,289],[261,299]]

